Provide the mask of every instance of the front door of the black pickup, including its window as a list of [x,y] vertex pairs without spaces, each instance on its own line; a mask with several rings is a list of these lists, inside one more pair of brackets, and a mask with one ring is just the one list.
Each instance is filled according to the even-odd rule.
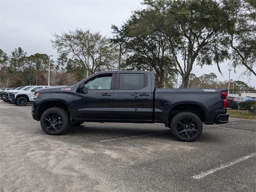
[[[116,73],[94,76],[84,82],[84,88],[74,93],[73,109],[76,120],[112,119]],[[76,89],[76,88],[75,88]]]

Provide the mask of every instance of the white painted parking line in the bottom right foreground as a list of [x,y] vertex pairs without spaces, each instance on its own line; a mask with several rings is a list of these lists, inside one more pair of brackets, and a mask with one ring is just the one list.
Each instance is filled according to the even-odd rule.
[[247,159],[252,158],[252,157],[255,157],[255,156],[256,156],[256,152],[251,153],[251,154],[249,154],[249,155],[246,155],[246,156],[244,156],[244,157],[241,157],[241,158],[239,158],[239,159],[236,159],[236,160],[234,160],[234,161],[232,161],[232,162],[229,162],[229,163],[227,163],[227,164],[225,164],[225,165],[219,166],[219,167],[217,167],[217,168],[210,169],[210,170],[208,170],[208,171],[206,171],[206,172],[202,172],[202,173],[200,173],[200,174],[198,174],[198,175],[194,175],[194,176],[192,176],[192,178],[194,178],[194,179],[201,179],[201,178],[203,178],[203,177],[205,177],[205,176],[208,176],[208,175],[210,175],[210,174],[213,174],[214,172],[216,172],[216,171],[218,171],[218,170],[222,170],[222,169],[224,169],[224,168],[230,167],[230,166],[232,166],[232,165],[234,165],[234,164],[237,164],[237,163],[239,163],[239,162],[242,162],[242,161],[244,161],[244,160],[247,160]]

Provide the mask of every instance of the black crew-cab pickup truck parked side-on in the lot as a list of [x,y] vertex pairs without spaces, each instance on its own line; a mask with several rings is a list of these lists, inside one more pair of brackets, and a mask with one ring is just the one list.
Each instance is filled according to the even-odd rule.
[[98,72],[73,86],[39,90],[32,116],[51,135],[83,122],[163,123],[176,139],[193,141],[202,122],[228,122],[226,91],[156,89],[154,72]]

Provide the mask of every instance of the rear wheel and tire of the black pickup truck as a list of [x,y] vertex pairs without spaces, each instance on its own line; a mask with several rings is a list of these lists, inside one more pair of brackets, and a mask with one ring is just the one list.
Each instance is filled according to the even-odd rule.
[[190,142],[202,134],[203,125],[196,114],[180,112],[172,118],[170,129],[177,140]]

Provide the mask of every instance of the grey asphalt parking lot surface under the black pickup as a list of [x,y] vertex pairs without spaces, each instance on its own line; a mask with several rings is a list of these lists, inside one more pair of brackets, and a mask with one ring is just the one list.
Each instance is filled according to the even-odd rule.
[[84,123],[43,132],[0,100],[0,191],[256,191],[256,121],[230,118],[179,142],[163,124]]

